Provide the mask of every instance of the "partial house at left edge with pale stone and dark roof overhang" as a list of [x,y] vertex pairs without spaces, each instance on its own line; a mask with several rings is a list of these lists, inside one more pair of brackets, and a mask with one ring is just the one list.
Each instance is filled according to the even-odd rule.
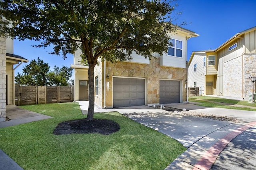
[[27,62],[13,54],[13,39],[0,37],[0,122],[6,119],[6,105],[14,104],[14,71]]

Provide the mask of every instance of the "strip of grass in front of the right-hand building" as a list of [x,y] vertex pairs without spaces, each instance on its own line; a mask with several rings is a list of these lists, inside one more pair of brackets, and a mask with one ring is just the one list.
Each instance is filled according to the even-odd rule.
[[222,102],[227,104],[238,104],[242,106],[252,106],[256,107],[256,104],[250,104],[246,100],[231,100],[231,99],[224,99],[224,98],[216,98],[212,96],[191,96],[188,98],[188,101],[190,102],[199,102],[202,104],[198,104],[199,106],[205,106],[205,107],[220,107],[220,108],[226,108],[226,109],[239,109],[239,110],[249,110],[249,111],[256,111],[256,109],[251,109],[247,107],[234,107],[234,106],[228,106],[223,104],[216,104],[212,102],[202,101],[202,100],[208,100],[213,102]]

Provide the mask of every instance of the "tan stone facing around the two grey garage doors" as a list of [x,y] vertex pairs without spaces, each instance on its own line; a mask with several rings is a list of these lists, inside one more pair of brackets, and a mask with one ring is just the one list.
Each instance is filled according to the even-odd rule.
[[147,78],[148,83],[148,105],[159,104],[159,86],[160,79],[166,80],[183,80],[181,88],[183,91],[183,102],[186,101],[186,89],[185,80],[187,77],[186,68],[173,68],[160,66],[159,58],[152,58],[150,64],[139,64],[130,62],[117,62],[110,63],[106,62],[106,75],[109,79],[109,88],[106,88],[106,107],[112,107],[112,76],[126,76],[126,77],[137,77]]

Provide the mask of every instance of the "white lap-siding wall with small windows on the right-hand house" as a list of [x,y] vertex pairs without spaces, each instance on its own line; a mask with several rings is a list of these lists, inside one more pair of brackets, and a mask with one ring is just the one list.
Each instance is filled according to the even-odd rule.
[[[194,82],[196,82],[197,87],[205,86],[206,66],[204,66],[204,57],[206,57],[205,53],[194,54],[194,57],[188,66],[188,87],[194,87]],[[195,72],[194,64],[196,64]]]

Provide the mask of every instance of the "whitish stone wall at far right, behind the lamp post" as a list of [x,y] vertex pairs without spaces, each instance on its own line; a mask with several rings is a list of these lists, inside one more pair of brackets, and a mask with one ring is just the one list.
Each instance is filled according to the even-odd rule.
[[[252,92],[251,76],[256,76],[256,53],[244,54],[244,99],[249,99],[249,93]],[[256,83],[254,83],[255,85]],[[256,88],[254,86],[254,92]]]

